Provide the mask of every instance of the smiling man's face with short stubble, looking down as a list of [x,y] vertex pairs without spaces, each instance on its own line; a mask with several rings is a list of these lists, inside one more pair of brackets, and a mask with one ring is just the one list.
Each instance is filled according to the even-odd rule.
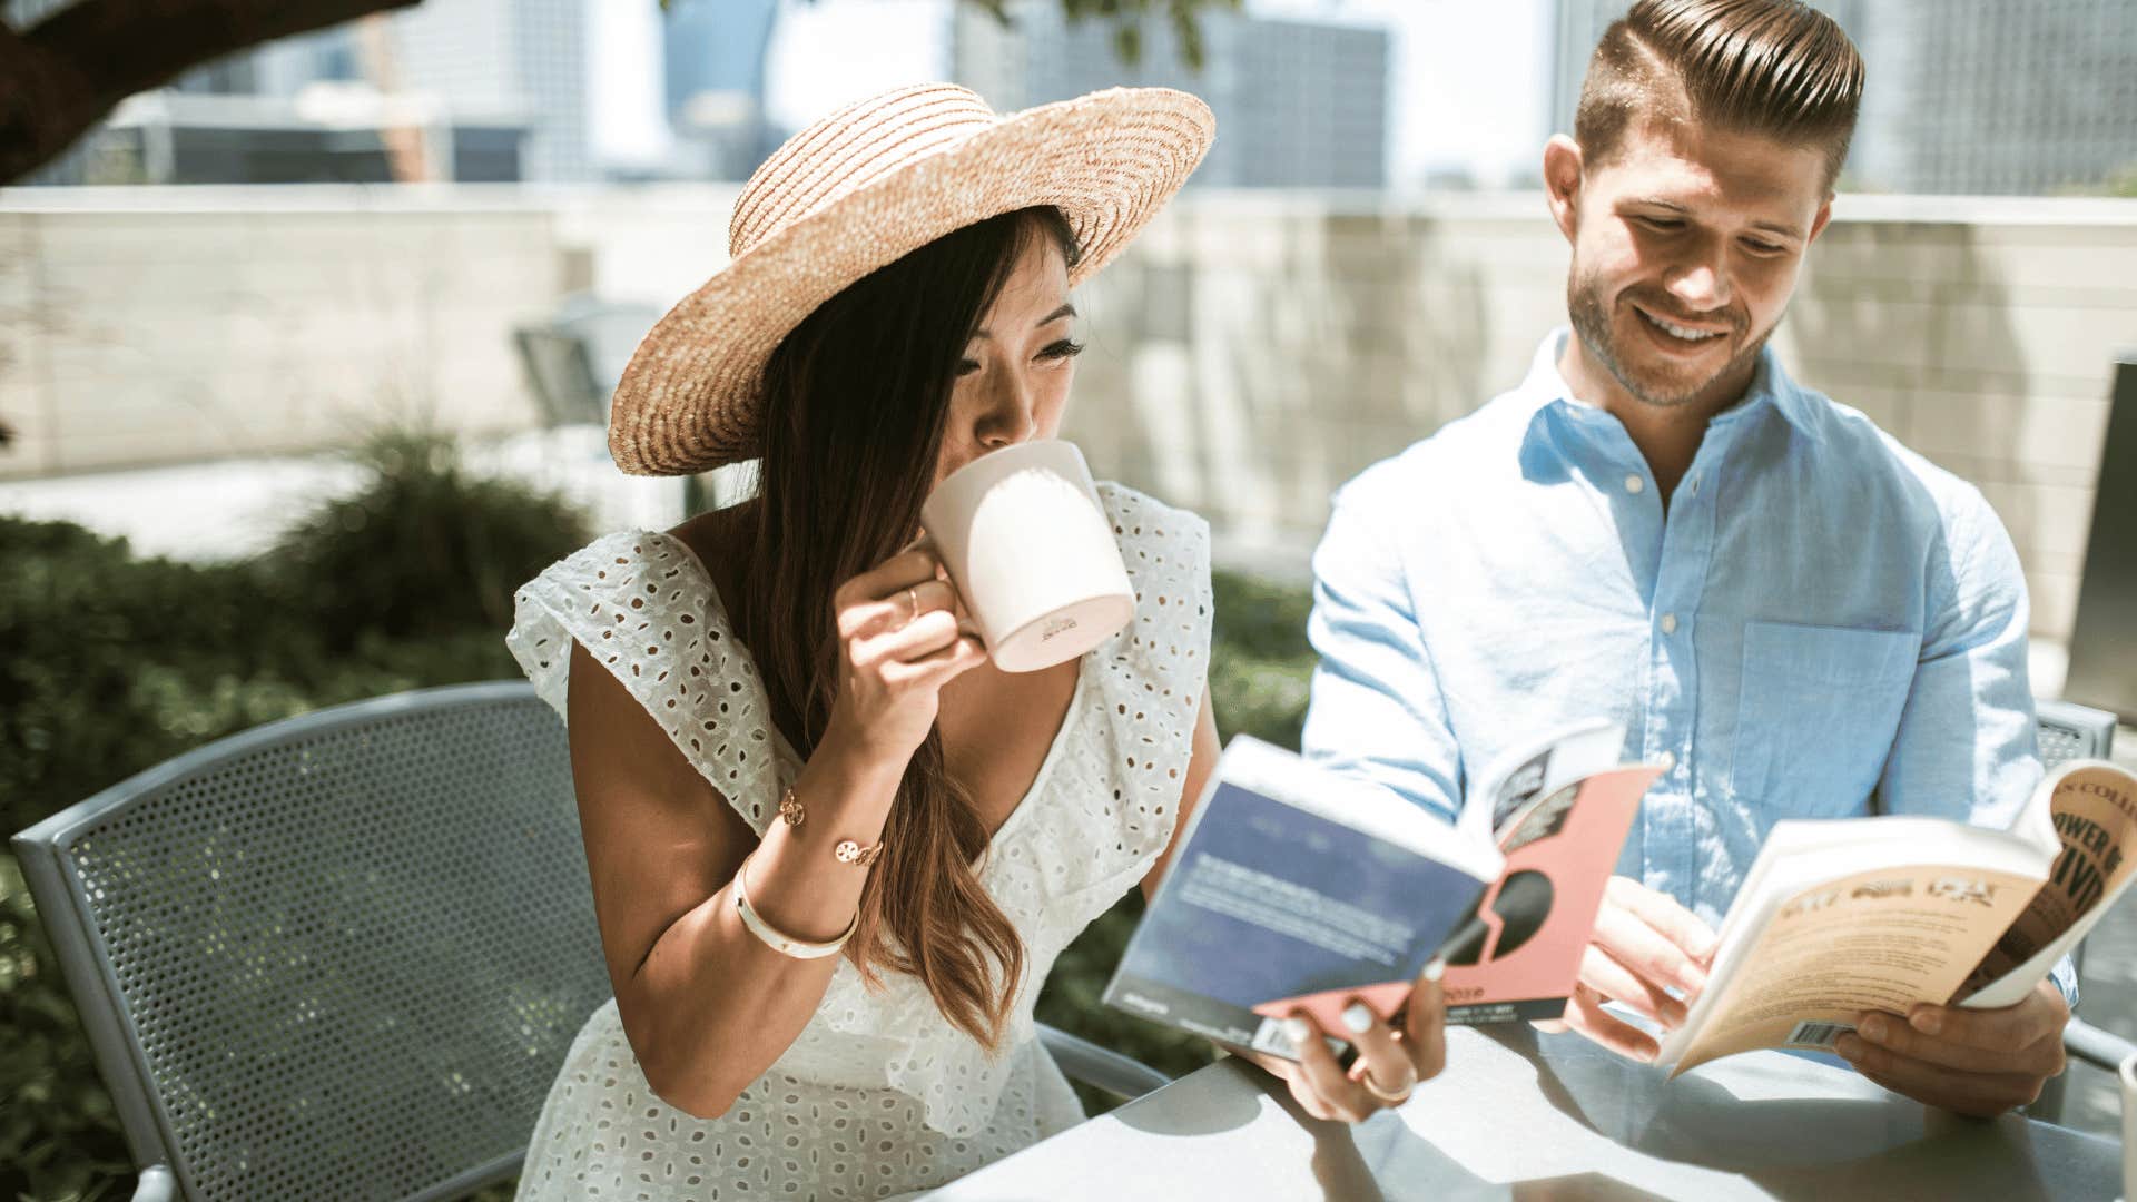
[[[1545,171],[1575,182],[1554,154]],[[1554,186],[1554,212],[1588,357],[1635,402],[1720,406],[1750,385],[1831,197],[1816,148],[1652,120],[1581,165],[1573,195]]]

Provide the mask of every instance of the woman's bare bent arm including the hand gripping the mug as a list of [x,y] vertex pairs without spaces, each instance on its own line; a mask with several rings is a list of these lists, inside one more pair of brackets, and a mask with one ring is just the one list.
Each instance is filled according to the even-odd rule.
[[880,843],[942,684],[987,657],[960,633],[938,573],[934,552],[908,550],[833,595],[838,697],[793,783],[806,819],[774,819],[761,845],[637,697],[571,650],[573,785],[615,1010],[645,1082],[680,1110],[722,1114],[823,1001],[838,958],[786,956],[750,933],[737,873],[756,915],[789,939],[829,943],[848,928],[868,868],[831,849]]

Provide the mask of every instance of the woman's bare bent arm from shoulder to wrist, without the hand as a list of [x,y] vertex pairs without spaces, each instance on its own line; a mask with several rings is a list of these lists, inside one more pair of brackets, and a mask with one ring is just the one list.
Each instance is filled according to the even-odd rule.
[[[624,1035],[654,1093],[718,1116],[808,1024],[838,956],[782,956],[742,926],[733,879],[756,836],[579,646],[568,714],[579,830]],[[895,789],[895,772],[821,746],[795,781],[808,821],[771,821],[750,860],[759,915],[797,939],[836,939],[868,870],[833,860],[831,845],[880,838]]]

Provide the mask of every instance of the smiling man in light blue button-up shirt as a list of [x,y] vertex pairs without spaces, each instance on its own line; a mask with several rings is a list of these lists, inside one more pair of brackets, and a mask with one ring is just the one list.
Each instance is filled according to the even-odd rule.
[[[1624,1054],[1705,984],[1782,817],[2009,826],[2039,781],[2026,588],[1981,494],[1795,385],[1767,338],[1861,98],[1789,0],[1639,0],[1543,152],[1571,332],[1351,481],[1314,554],[1306,751],[1447,817],[1511,744],[1624,721],[1663,776],[1566,1024]],[[1861,1016],[1838,1052],[1968,1114],[2062,1069],[2069,967],[2022,1005]]]

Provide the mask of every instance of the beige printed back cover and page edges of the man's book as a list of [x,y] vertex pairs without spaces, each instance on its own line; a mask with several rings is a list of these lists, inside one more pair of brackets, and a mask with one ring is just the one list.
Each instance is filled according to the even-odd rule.
[[1831,1048],[1866,1010],[1949,1001],[2043,875],[2028,843],[1943,819],[1780,823],[1663,1061]]

